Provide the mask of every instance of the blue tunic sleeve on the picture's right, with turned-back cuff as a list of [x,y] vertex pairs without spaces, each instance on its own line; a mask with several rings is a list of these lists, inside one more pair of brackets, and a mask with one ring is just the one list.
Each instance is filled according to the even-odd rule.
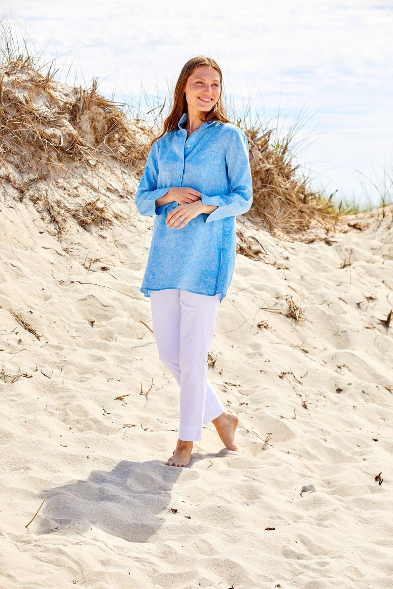
[[205,223],[246,213],[252,204],[252,177],[249,160],[249,145],[242,130],[234,130],[226,151],[227,174],[230,194],[206,196],[201,194],[203,204],[218,206],[210,213]]

